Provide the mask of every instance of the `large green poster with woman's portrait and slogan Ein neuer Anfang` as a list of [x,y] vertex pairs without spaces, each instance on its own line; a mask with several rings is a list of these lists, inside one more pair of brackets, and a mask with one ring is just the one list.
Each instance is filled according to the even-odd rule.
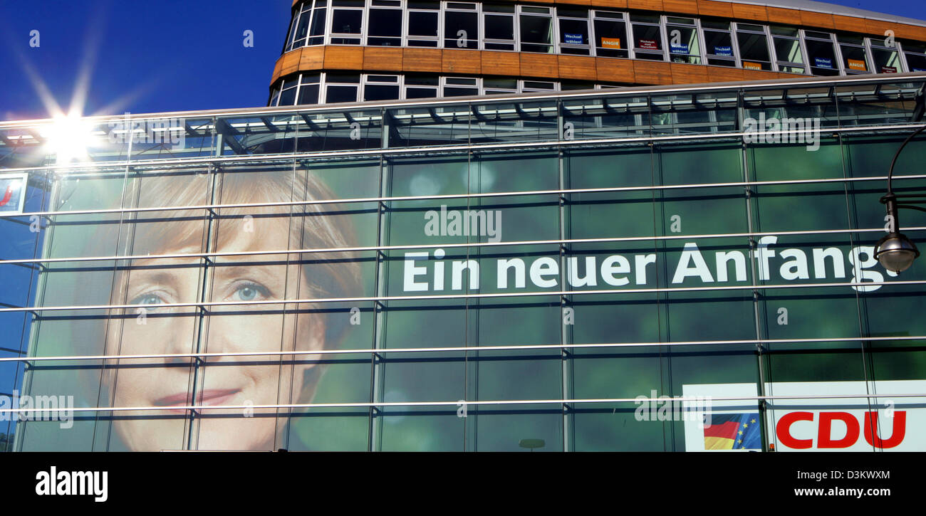
[[[67,429],[20,421],[18,447],[704,447],[703,429],[639,421],[628,400],[697,385],[755,395],[757,340],[775,389],[920,381],[926,327],[905,302],[920,287],[904,280],[923,265],[895,276],[877,264],[880,234],[862,231],[882,225],[877,192],[841,182],[888,147],[625,146],[62,176],[42,255],[70,260],[42,269],[35,302],[55,310],[33,323],[30,352],[95,358],[36,362],[21,394],[94,410],[73,412]],[[861,346],[871,369],[858,365]],[[718,412],[710,446],[751,428],[754,412]],[[864,411],[835,412],[866,424]],[[798,442],[819,428],[813,413],[791,424]],[[827,420],[835,442],[842,417]],[[889,427],[879,420],[893,442]],[[749,432],[732,448],[755,448]],[[903,446],[921,446],[916,436]],[[860,430],[852,447],[865,443]]]

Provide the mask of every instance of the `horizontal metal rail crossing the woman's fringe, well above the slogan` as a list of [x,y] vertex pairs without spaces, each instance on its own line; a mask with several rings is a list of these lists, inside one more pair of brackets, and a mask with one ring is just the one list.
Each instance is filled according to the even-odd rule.
[[[926,174],[916,174],[908,176],[894,176],[895,179],[923,179]],[[603,187],[603,188],[579,188],[579,189],[561,189],[561,190],[518,190],[518,191],[493,191],[493,192],[474,192],[474,193],[446,193],[440,195],[397,195],[393,197],[353,197],[347,199],[313,199],[311,201],[281,201],[276,203],[229,203],[229,204],[191,204],[188,206],[160,206],[144,208],[103,208],[96,210],[62,210],[62,211],[45,211],[45,212],[24,212],[20,214],[0,213],[0,219],[12,217],[31,217],[31,216],[57,216],[57,215],[106,215],[106,214],[144,214],[157,212],[172,211],[216,211],[228,209],[249,209],[261,207],[295,207],[321,204],[350,204],[350,203],[397,203],[407,201],[442,201],[452,199],[489,199],[493,197],[519,197],[530,195],[571,195],[577,193],[611,193],[622,191],[649,191],[649,190],[691,190],[702,188],[749,188],[759,186],[782,186],[782,185],[813,185],[827,183],[851,183],[857,181],[886,181],[887,176],[868,176],[860,178],[815,178],[815,179],[783,179],[770,181],[734,181],[728,183],[682,183],[671,185],[646,185],[632,187]],[[264,215],[264,214],[261,214]],[[277,214],[266,214],[277,215]],[[289,215],[289,214],[279,214]],[[128,222],[127,223],[131,223]]]

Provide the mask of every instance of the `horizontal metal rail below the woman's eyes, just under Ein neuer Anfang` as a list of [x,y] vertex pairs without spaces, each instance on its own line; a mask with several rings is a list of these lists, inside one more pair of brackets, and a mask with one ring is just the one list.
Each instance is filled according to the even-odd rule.
[[309,298],[300,300],[261,300],[261,301],[198,301],[174,302],[163,304],[93,304],[73,306],[30,306],[25,308],[0,308],[5,312],[62,312],[71,310],[131,310],[144,308],[152,312],[169,308],[207,308],[210,306],[257,306],[269,304],[310,304],[332,302],[376,302],[376,301],[423,301],[423,300],[469,300],[469,299],[495,299],[495,298],[531,298],[531,297],[565,297],[582,296],[588,294],[646,294],[646,293],[682,293],[682,292],[724,292],[737,290],[767,290],[767,289],[819,289],[834,287],[883,287],[885,285],[924,285],[923,280],[906,281],[868,281],[868,282],[840,282],[840,283],[795,283],[794,285],[731,285],[721,287],[669,287],[652,289],[601,289],[601,290],[557,290],[552,292],[498,292],[491,294],[435,294],[411,296],[369,296],[357,298]]

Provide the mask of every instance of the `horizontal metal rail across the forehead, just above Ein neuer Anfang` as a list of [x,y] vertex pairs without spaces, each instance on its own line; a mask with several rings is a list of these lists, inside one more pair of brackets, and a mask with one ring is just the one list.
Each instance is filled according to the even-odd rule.
[[[905,227],[905,231],[921,231],[926,227]],[[846,233],[874,233],[884,232],[883,227],[870,227],[859,229],[818,229],[803,231],[753,231],[745,233],[713,233],[705,235],[658,235],[645,237],[610,237],[596,239],[565,239],[565,240],[513,240],[498,242],[466,242],[442,244],[404,244],[380,246],[332,247],[316,249],[278,249],[269,251],[225,251],[225,252],[175,252],[167,254],[127,254],[122,256],[85,256],[66,258],[19,258],[13,260],[0,260],[4,264],[60,264],[72,262],[109,262],[109,261],[135,261],[135,260],[165,260],[187,258],[217,258],[221,256],[269,256],[277,254],[310,254],[326,252],[383,252],[402,251],[406,249],[459,249],[459,248],[493,248],[523,245],[569,245],[580,243],[607,243],[607,242],[635,242],[656,240],[701,240],[725,238],[751,238],[751,237],[777,237],[795,235],[833,235]],[[199,266],[199,264],[190,264]],[[161,306],[161,305],[158,305]]]

